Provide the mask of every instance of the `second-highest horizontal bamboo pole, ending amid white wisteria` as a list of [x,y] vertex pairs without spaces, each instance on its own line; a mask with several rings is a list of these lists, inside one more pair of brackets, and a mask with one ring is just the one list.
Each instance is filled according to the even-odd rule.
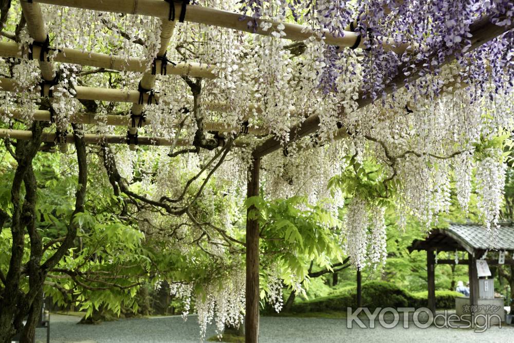
[[[34,58],[40,56],[41,47],[33,46]],[[24,44],[15,42],[0,42],[0,57],[3,58],[27,58],[28,51]],[[107,55],[106,53],[88,52],[78,49],[62,48],[53,58],[55,62],[79,64],[82,66],[91,66],[96,68],[105,68],[118,71],[135,71],[136,73],[145,73],[148,71],[145,59],[140,58],[124,58],[117,55]],[[47,63],[47,62],[45,62]],[[169,75],[188,75],[191,77],[201,77],[206,79],[214,79],[215,65],[203,64],[197,62],[173,62],[167,66],[167,74]],[[162,62],[156,61],[156,73],[161,74]]]

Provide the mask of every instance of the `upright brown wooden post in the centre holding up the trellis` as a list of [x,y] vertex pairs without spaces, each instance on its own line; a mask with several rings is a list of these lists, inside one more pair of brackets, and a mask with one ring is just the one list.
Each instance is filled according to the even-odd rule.
[[[247,196],[259,195],[259,169],[261,159],[253,160],[252,169],[248,173]],[[246,217],[246,343],[259,342],[259,222]]]

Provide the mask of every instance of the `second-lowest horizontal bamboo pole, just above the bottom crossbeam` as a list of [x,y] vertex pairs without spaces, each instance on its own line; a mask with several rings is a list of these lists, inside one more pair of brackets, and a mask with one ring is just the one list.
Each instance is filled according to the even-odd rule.
[[[0,109],[0,114],[9,115],[11,118],[24,119],[26,113],[21,109],[12,108],[8,111]],[[33,120],[38,121],[50,121],[51,115],[49,111],[35,110],[31,113]],[[124,126],[131,127],[132,119],[130,115],[99,115],[95,113],[83,113],[78,112],[70,116],[69,121],[77,124],[92,124],[92,125],[113,125],[113,126]],[[141,126],[151,125],[152,121],[149,118],[144,118],[141,122]],[[178,123],[177,123],[178,125]],[[217,131],[217,132],[239,132],[241,127],[232,126],[227,127],[222,123],[206,122],[204,123],[205,131]],[[267,134],[268,132],[262,129],[248,128],[248,133],[251,134]]]

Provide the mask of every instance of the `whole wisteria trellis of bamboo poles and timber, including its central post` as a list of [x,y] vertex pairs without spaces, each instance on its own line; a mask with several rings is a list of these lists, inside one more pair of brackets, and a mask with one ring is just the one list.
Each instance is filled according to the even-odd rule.
[[[94,66],[109,68],[113,70],[129,70],[137,71],[142,73],[141,86],[144,89],[153,89],[157,75],[166,74],[163,70],[167,70],[167,74],[175,75],[188,75],[192,77],[203,77],[203,78],[215,78],[216,74],[214,70],[216,66],[206,65],[194,62],[175,62],[174,65],[170,64],[166,68],[162,68],[162,58],[166,56],[166,51],[172,37],[175,25],[181,25],[176,23],[177,21],[185,21],[190,23],[198,23],[204,25],[212,25],[217,27],[223,27],[233,29],[237,31],[244,31],[251,34],[263,34],[269,35],[271,30],[263,31],[260,27],[254,28],[248,27],[246,21],[241,21],[240,13],[232,13],[228,11],[218,10],[214,8],[203,7],[199,5],[190,5],[189,2],[183,1],[164,1],[164,0],[20,0],[23,14],[27,22],[27,28],[30,37],[38,44],[32,46],[32,53],[28,53],[26,47],[21,46],[17,43],[0,43],[0,57],[4,58],[22,58],[22,59],[34,59],[33,57],[41,56],[39,65],[41,68],[41,74],[44,80],[51,82],[53,80],[55,69],[53,61],[65,62],[72,64],[79,64],[83,66]],[[161,35],[160,35],[160,49],[157,53],[157,58],[153,61],[155,63],[154,70],[149,70],[144,65],[149,65],[148,62],[142,59],[129,58],[125,59],[120,56],[106,55],[97,52],[82,51],[79,49],[62,49],[57,52],[57,55],[53,57],[52,61],[47,60],[47,52],[42,51],[40,46],[47,40],[47,32],[45,27],[45,21],[42,15],[40,3],[75,7],[82,9],[90,9],[97,11],[106,11],[114,13],[124,14],[140,14],[158,17],[161,20]],[[176,19],[170,20],[170,6],[173,6],[173,13],[176,13]],[[175,18],[173,18],[175,19]],[[265,19],[262,21],[266,21]],[[261,22],[262,22],[261,21]],[[284,25],[283,31],[285,32],[284,39],[292,41],[303,41],[311,37],[315,32],[310,27],[290,24],[290,23],[276,23],[270,22],[272,26]],[[481,17],[477,19],[470,26],[470,42],[471,45],[468,51],[473,50],[482,44],[498,37],[504,32],[510,30],[511,27],[500,27],[490,22],[488,17]],[[359,33],[353,31],[344,32],[344,37],[334,36],[330,32],[322,32],[325,38],[325,43],[329,45],[335,45],[340,48],[357,47],[363,48],[366,46],[366,37],[359,37]],[[393,42],[384,38],[385,42],[383,47],[388,50],[401,53],[406,50],[407,44],[393,44]],[[160,58],[160,59],[159,59]],[[37,59],[37,58],[35,58]],[[455,56],[449,56],[446,58],[443,64],[450,63],[455,60]],[[416,69],[423,69],[421,64],[416,66]],[[409,63],[410,64],[410,63]],[[391,94],[394,89],[399,89],[405,86],[405,80],[409,77],[410,80],[416,80],[419,75],[404,75],[402,73],[405,65],[398,67],[398,75],[388,84],[384,91],[387,94]],[[418,68],[419,67],[419,68]],[[412,68],[411,68],[412,69]],[[152,72],[155,71],[155,72]],[[3,91],[7,92],[19,92],[20,89],[15,89],[12,80],[4,78],[0,80],[0,87]],[[49,85],[41,86],[42,96],[52,96]],[[132,103],[132,114],[140,115],[143,112],[144,104],[152,103],[156,98],[152,99],[148,94],[142,94],[138,90],[133,91],[121,91],[119,89],[108,89],[108,88],[95,88],[95,87],[76,87],[76,98],[88,99],[88,100],[103,100],[103,101],[119,101]],[[142,97],[142,99],[141,99]],[[372,103],[371,97],[366,97],[365,94],[360,94],[356,100],[358,109]],[[294,105],[294,104],[291,104]],[[226,111],[226,104],[206,104],[207,109],[213,111]],[[253,108],[259,111],[258,106],[254,104],[248,104],[249,108]],[[296,113],[301,114],[295,110]],[[295,112],[293,111],[293,112]],[[16,114],[16,109],[11,112]],[[340,117],[344,115],[344,111],[341,110]],[[49,121],[51,114],[48,111],[38,111],[36,113],[36,120]],[[91,123],[96,124],[98,121],[95,119],[95,114],[80,113],[74,114],[71,117],[72,122],[76,123]],[[131,134],[137,133],[137,125],[130,124],[130,117],[118,116],[109,117],[105,120],[109,124],[128,126],[128,131]],[[143,123],[144,124],[144,123]],[[148,124],[148,123],[146,123]],[[339,123],[340,124],[340,123]],[[205,127],[207,130],[216,129],[217,131],[234,131],[240,130],[242,123],[234,123],[231,127],[220,127],[219,123],[206,123]],[[298,123],[293,125],[288,133],[288,144],[295,142],[296,140],[307,136],[309,134],[316,133],[320,128],[320,118],[317,115],[310,116],[305,120],[298,120]],[[251,129],[251,128],[250,128]],[[249,130],[250,134],[262,134],[259,130]],[[340,128],[335,133],[336,138],[346,137],[347,132],[345,128]],[[0,131],[0,138],[14,138],[14,139],[30,139],[31,132],[29,131],[16,131],[16,130],[2,130]],[[46,134],[44,141],[53,141],[56,138],[55,135]],[[68,141],[71,141],[72,136],[68,137]],[[118,135],[86,135],[88,143],[125,143],[125,136]],[[139,145],[171,145],[173,142],[169,139],[161,137],[139,137]],[[182,142],[178,142],[182,144]],[[183,143],[185,144],[185,143]],[[244,142],[235,142],[235,146],[246,146]],[[260,163],[261,159],[279,149],[283,148],[283,145],[276,137],[268,136],[268,138],[260,143],[253,151],[253,164],[251,166],[251,172],[249,173],[247,196],[259,195],[260,188]],[[248,211],[252,210],[251,208]],[[249,217],[249,216],[248,216]],[[257,342],[259,333],[259,224],[256,220],[247,218],[246,223],[247,237],[247,252],[246,252],[246,341]],[[431,248],[428,249],[432,251]],[[472,255],[472,254],[471,254]],[[429,252],[429,265],[433,266],[433,251]],[[474,257],[470,258],[470,261]],[[430,264],[431,263],[431,264]],[[429,269],[430,270],[430,269]],[[434,306],[434,286],[433,286],[433,268],[432,268],[432,284],[429,282],[429,294],[432,296],[432,306]],[[430,272],[429,272],[430,275]],[[360,273],[359,273],[360,276]],[[360,282],[359,282],[360,283]],[[473,290],[473,295],[476,296],[476,290]]]

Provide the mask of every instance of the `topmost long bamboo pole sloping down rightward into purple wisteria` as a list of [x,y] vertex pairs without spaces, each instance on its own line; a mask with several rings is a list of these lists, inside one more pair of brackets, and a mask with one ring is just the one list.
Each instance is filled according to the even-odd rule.
[[[163,20],[168,20],[170,12],[170,4],[164,0],[34,0],[39,3],[49,5],[59,5],[75,8],[83,8],[96,11],[125,13],[125,14],[140,14],[159,17]],[[175,13],[180,13],[181,3],[175,3]],[[271,30],[264,31],[260,26],[248,26],[251,18],[241,20],[241,13],[234,13],[215,8],[203,7],[199,5],[188,5],[186,10],[185,21],[197,24],[204,24],[210,26],[224,27],[237,31],[257,33],[262,35],[270,35]],[[259,19],[259,23],[268,22],[266,19]],[[285,39],[292,41],[304,41],[314,34],[321,33],[324,41],[328,45],[335,45],[339,47],[352,47],[357,42],[359,34],[352,31],[345,31],[343,37],[336,37],[328,30],[313,30],[312,28],[304,25],[270,22],[274,27],[279,24],[284,25]],[[255,29],[255,30],[254,30]],[[368,38],[362,37],[359,48],[366,46],[365,42]],[[405,51],[409,44],[396,44],[393,39],[382,38],[384,42],[383,47],[387,50],[393,50],[397,53]]]

